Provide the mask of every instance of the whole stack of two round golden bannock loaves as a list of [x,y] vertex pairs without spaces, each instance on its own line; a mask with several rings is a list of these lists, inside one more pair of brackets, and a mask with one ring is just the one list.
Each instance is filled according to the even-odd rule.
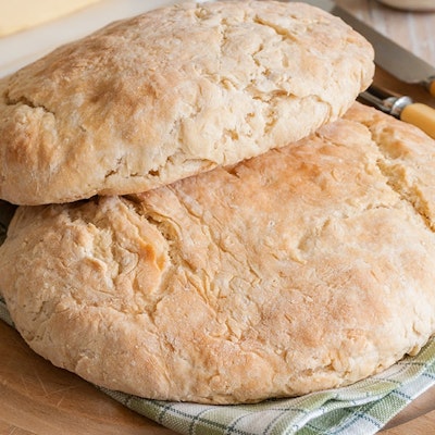
[[147,398],[346,385],[435,332],[434,141],[297,2],[181,3],[0,82],[0,291],[55,365]]

